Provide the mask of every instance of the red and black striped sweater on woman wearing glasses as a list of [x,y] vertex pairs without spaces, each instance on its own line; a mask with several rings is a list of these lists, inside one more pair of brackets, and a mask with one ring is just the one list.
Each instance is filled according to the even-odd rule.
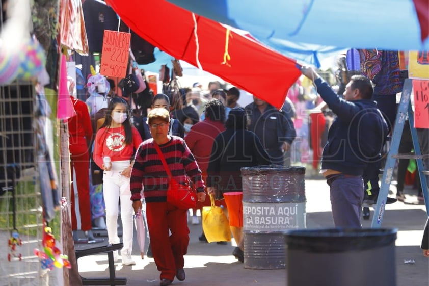
[[[168,143],[159,145],[164,154],[171,174],[178,183],[184,183],[186,176],[190,177],[197,192],[204,191],[201,170],[182,138],[171,136]],[[154,147],[153,139],[140,144],[136,152],[131,171],[130,188],[131,200],[140,200],[143,196],[146,202],[167,201],[168,175]]]

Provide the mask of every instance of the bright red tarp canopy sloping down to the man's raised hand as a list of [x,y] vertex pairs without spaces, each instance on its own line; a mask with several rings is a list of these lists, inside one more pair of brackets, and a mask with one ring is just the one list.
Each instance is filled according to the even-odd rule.
[[[301,71],[296,62],[219,22],[168,1],[107,0],[128,27],[167,54],[221,77],[280,108]],[[196,41],[194,29],[197,29]],[[197,45],[198,44],[198,45]],[[224,62],[228,52],[230,60]]]

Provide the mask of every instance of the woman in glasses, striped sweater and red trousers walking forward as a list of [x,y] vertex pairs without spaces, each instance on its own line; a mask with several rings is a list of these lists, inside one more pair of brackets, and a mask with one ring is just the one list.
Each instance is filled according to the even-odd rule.
[[183,139],[168,135],[169,122],[170,115],[164,108],[149,112],[147,123],[152,139],[144,141],[137,150],[130,179],[135,212],[142,208],[144,186],[149,237],[156,267],[161,272],[161,286],[170,285],[174,276],[180,281],[185,279],[183,255],[187,252],[189,228],[186,210],[167,203],[169,178],[154,144],[163,152],[174,179],[184,183],[190,177],[196,187],[198,201],[205,200],[201,170]]

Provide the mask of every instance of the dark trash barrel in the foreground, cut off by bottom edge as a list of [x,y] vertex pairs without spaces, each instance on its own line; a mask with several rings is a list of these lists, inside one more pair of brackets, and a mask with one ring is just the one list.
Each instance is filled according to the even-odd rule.
[[288,230],[287,285],[396,286],[396,231]]

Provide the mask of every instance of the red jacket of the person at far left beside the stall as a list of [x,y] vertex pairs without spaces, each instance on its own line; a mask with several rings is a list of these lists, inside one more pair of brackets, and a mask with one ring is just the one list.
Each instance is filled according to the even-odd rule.
[[85,138],[87,142],[92,138],[91,118],[88,106],[82,100],[70,96],[76,115],[68,119],[68,133],[70,144],[77,144],[79,139]]

